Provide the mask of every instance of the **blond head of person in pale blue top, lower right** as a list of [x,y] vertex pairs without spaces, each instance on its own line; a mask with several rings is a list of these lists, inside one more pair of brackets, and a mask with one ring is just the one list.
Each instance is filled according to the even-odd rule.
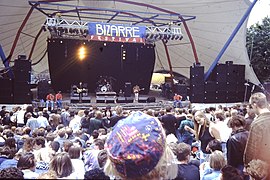
[[214,170],[220,170],[226,165],[226,160],[221,151],[214,151],[209,157],[210,167]]

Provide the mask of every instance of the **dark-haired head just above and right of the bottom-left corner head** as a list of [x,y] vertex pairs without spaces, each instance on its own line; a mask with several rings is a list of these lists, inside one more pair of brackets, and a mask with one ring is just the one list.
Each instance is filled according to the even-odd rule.
[[33,153],[22,154],[18,163],[17,168],[21,170],[30,169],[32,171],[36,168],[36,160]]

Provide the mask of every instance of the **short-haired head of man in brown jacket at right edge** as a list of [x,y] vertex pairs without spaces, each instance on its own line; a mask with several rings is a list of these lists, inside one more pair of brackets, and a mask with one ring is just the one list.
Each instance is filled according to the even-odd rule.
[[259,111],[258,111],[259,109],[268,108],[266,95],[261,92],[252,94],[250,96],[249,103],[252,109],[256,111],[256,114],[259,114]]

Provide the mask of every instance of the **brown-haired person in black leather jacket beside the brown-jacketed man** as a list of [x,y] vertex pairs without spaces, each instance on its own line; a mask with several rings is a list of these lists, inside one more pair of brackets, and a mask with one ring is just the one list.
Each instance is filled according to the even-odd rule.
[[237,168],[243,174],[243,156],[249,135],[244,129],[245,118],[241,115],[232,116],[228,125],[232,128],[232,134],[226,144],[227,164]]

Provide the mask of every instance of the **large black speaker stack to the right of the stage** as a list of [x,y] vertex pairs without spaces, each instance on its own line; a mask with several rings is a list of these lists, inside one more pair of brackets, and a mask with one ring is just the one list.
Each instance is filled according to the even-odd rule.
[[202,66],[190,69],[190,100],[198,103],[234,103],[244,101],[245,65],[217,64],[207,81]]

